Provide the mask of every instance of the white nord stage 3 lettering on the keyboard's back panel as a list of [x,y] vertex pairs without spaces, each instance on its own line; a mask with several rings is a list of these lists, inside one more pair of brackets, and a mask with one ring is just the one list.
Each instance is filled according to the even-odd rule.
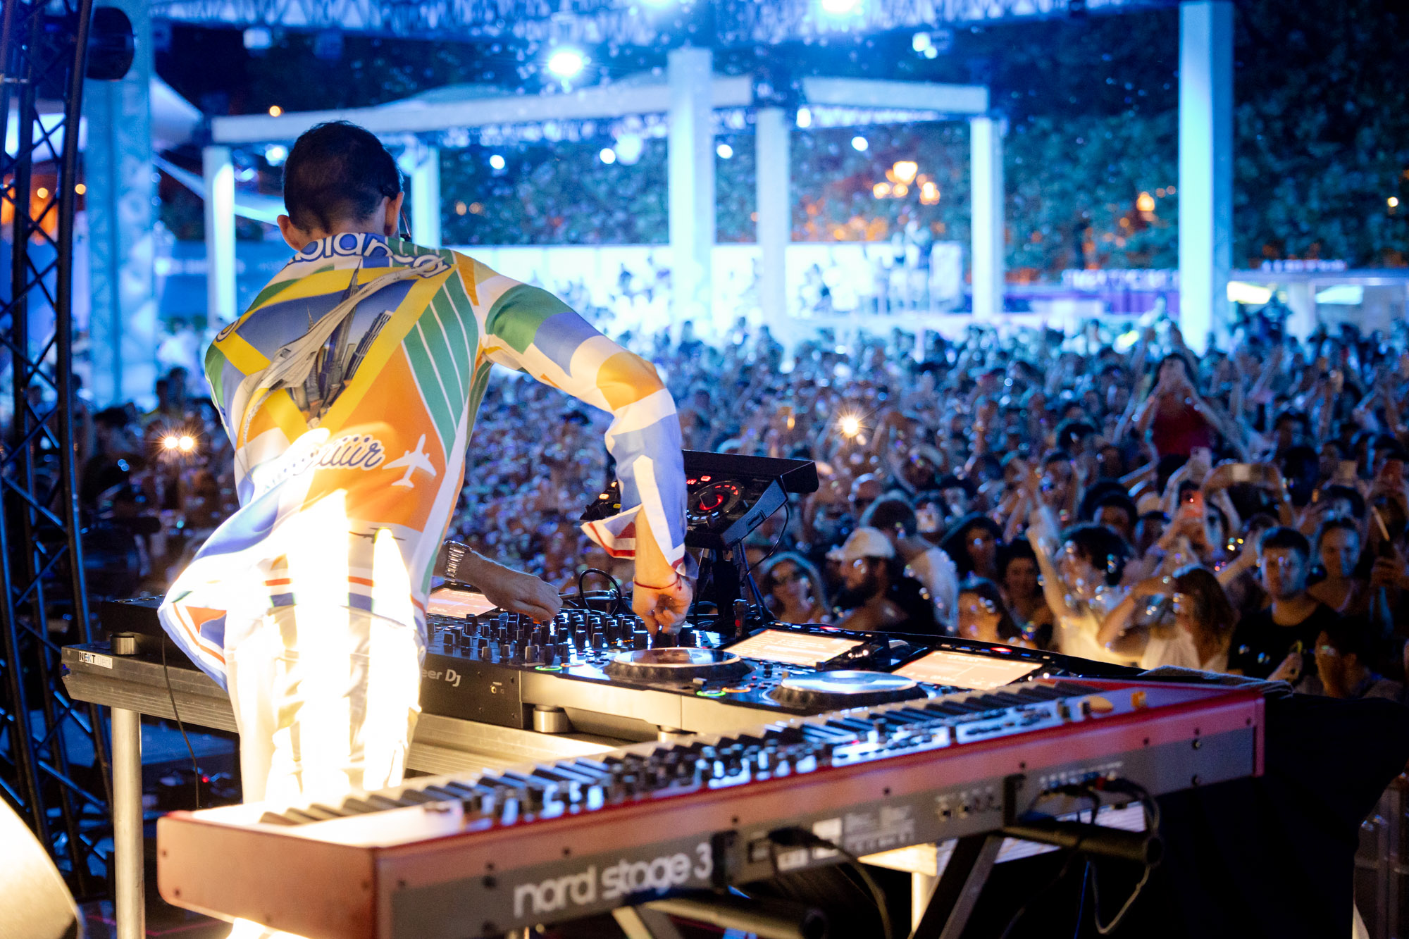
[[645,891],[664,892],[692,878],[707,881],[714,873],[709,845],[704,842],[696,845],[695,854],[695,861],[690,861],[685,852],[641,861],[621,859],[600,871],[596,864],[589,864],[578,874],[550,877],[537,884],[519,884],[514,887],[514,916],[530,914],[541,916],[565,909],[569,904],[586,907],[599,900],[613,902]]

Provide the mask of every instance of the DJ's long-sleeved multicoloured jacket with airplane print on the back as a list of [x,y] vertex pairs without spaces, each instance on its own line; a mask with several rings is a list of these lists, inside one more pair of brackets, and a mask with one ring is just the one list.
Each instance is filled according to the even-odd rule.
[[[606,446],[621,512],[583,529],[631,557],[640,509],[685,570],[679,423],[648,362],[551,293],[462,254],[337,234],[299,252],[206,354],[241,508],[161,608],[201,670],[224,684],[227,650],[271,608],[300,602],[345,596],[348,608],[424,634],[431,570],[492,362],[613,415]],[[382,529],[404,572],[373,570]]]

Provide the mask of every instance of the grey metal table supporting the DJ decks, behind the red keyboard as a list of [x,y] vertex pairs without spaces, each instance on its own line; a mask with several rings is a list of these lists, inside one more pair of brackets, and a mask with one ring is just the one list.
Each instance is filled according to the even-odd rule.
[[[180,715],[182,723],[192,726],[235,730],[235,715],[225,691],[185,660],[180,665],[163,667],[161,661],[116,656],[108,646],[96,644],[66,647],[63,665],[69,695],[113,712],[113,900],[117,939],[142,939],[141,718],[149,715],[170,720]],[[621,746],[620,740],[607,737],[535,733],[421,713],[406,766],[433,774],[465,773],[590,756],[617,746]]]

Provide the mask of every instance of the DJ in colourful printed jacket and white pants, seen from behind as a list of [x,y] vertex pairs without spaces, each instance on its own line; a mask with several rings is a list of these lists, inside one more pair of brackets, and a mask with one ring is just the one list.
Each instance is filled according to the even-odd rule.
[[[303,134],[279,217],[297,254],[206,355],[241,509],[161,616],[230,689],[247,799],[400,781],[431,571],[493,362],[612,412],[621,510],[586,534],[635,558],[633,608],[651,632],[690,599],[679,423],[654,367],[551,293],[395,237],[402,199],[368,131]],[[500,606],[561,606],[488,558],[462,570]]]

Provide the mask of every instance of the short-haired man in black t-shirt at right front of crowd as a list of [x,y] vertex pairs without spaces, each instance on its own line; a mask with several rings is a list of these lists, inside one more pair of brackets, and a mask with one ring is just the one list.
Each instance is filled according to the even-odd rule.
[[1336,612],[1306,592],[1310,554],[1310,543],[1296,529],[1277,527],[1262,536],[1258,570],[1272,605],[1239,622],[1230,671],[1288,681],[1308,671],[1316,637],[1336,622]]

